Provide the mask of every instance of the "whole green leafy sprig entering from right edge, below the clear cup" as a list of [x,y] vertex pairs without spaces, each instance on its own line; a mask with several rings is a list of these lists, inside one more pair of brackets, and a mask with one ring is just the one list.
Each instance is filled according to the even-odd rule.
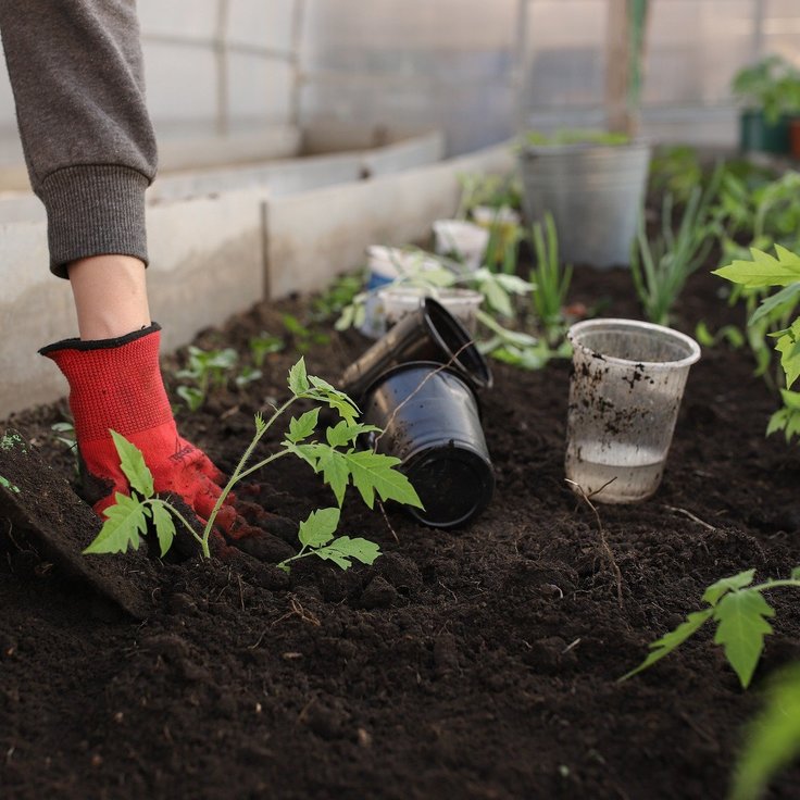
[[786,586],[800,588],[800,567],[795,568],[787,579],[766,580],[752,586],[754,576],[755,570],[747,570],[709,586],[702,598],[709,608],[690,613],[674,630],[652,642],[645,661],[620,680],[652,666],[712,620],[716,623],[714,643],[723,647],[739,683],[747,688],[764,649],[764,637],[773,633],[767,620],[775,615],[775,610],[764,598],[764,592]]

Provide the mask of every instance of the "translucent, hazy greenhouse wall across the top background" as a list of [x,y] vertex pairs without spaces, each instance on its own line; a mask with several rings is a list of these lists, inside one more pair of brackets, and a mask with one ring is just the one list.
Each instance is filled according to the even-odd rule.
[[[650,0],[646,130],[733,141],[735,71],[800,62],[797,0]],[[602,124],[621,0],[139,0],[164,168],[386,143],[459,154],[521,127]],[[0,187],[26,186],[0,71]]]

